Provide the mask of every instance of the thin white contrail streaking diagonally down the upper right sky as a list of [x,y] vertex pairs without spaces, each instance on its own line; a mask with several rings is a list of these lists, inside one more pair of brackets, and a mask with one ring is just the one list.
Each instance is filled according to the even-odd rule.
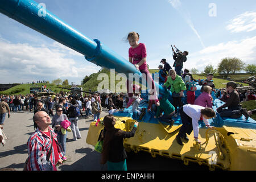
[[169,3],[172,5],[172,7],[174,7],[174,9],[176,9],[180,15],[183,17],[183,19],[185,19],[185,21],[187,22],[188,26],[191,27],[191,29],[193,30],[193,32],[195,32],[197,38],[199,38],[201,45],[203,46],[203,48],[205,48],[204,43],[201,39],[201,36],[199,35],[199,33],[197,32],[191,16],[187,13],[185,13],[185,11],[181,11],[180,7],[181,7],[181,2],[180,0],[169,0]]

